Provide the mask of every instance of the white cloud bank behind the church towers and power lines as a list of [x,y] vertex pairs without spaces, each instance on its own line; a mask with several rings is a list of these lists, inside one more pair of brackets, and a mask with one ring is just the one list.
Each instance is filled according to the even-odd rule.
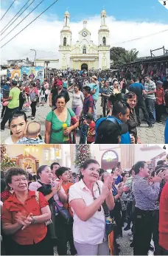
[[[3,13],[3,10],[2,10]],[[37,14],[29,15],[10,35],[7,36],[2,43],[5,44],[10,38],[12,38],[17,32],[24,28],[30,21],[32,21]],[[48,17],[49,16],[49,17]],[[8,13],[2,21],[1,27],[3,28],[10,19],[13,18],[13,13]],[[23,18],[23,17],[22,17]],[[21,21],[22,18],[18,18]],[[78,39],[78,32],[83,29],[83,19],[81,21],[74,22],[72,17],[71,21],[71,32],[72,42],[75,43]],[[144,35],[150,35],[155,32],[168,29],[168,24],[160,24],[157,21],[150,23],[147,21],[136,22],[136,21],[116,21],[113,16],[107,18],[108,28],[111,31],[111,46],[122,46],[126,49],[136,48],[139,50],[139,57],[149,56],[150,49],[157,49],[161,46],[165,46],[168,49],[168,31],[153,35],[148,38],[143,38],[137,41],[127,42],[125,44],[119,44],[123,41],[129,41],[134,38],[143,37]],[[15,25],[13,25],[14,27]],[[13,27],[10,27],[9,32]],[[91,32],[91,40],[94,44],[98,42],[98,30],[100,27],[100,15],[91,16],[88,18],[87,28]],[[1,49],[1,63],[5,63],[5,60],[15,58],[34,58],[34,53],[30,52],[29,49],[38,49],[46,52],[37,52],[37,58],[58,58],[58,49],[60,44],[60,30],[63,28],[63,21],[59,21],[57,16],[55,18],[50,17],[46,14],[38,18],[33,22],[26,30],[21,32],[16,38],[13,39],[9,44]],[[4,33],[4,35],[7,34]],[[3,35],[3,36],[4,36]],[[49,52],[56,52],[49,53]],[[155,52],[157,54],[157,52]],[[158,55],[162,52],[158,52]],[[56,56],[55,56],[56,55]]]

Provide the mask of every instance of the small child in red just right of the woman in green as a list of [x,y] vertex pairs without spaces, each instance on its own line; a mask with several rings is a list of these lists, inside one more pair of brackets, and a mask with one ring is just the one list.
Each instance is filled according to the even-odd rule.
[[88,113],[86,117],[86,125],[88,125],[88,134],[87,134],[87,144],[91,144],[92,142],[95,142],[95,128],[96,124],[94,122],[93,114]]

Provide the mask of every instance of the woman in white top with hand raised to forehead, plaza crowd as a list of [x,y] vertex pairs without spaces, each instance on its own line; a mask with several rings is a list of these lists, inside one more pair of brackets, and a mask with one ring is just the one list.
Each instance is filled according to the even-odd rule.
[[[73,89],[72,89],[73,88]],[[83,110],[83,92],[80,91],[80,86],[73,85],[68,88],[68,91],[73,94],[71,109],[74,111],[77,117],[80,117],[80,113]]]

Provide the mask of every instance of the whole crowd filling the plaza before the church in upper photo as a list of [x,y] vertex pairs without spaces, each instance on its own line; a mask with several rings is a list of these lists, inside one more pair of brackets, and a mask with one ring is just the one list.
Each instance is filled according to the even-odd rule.
[[[1,131],[8,120],[12,120],[9,122],[11,132],[13,127],[16,131],[5,143],[21,143],[18,140],[24,137],[27,139],[22,141],[29,141],[27,125],[21,126],[20,119],[23,117],[24,122],[29,118],[35,120],[37,106],[40,105],[43,111],[44,104],[49,104],[51,111],[43,117],[43,121],[46,119],[43,143],[76,143],[78,130],[80,144],[141,143],[137,132],[141,125],[140,109],[148,128],[153,128],[155,122],[161,124],[162,114],[168,112],[168,77],[156,79],[144,75],[126,80],[122,72],[113,75],[111,71],[58,70],[57,76],[50,79],[52,84],[46,79],[42,85],[39,80],[24,80],[21,84],[7,80],[1,88]],[[69,94],[72,94],[71,108],[66,106]],[[102,113],[97,113],[99,97]],[[25,117],[23,111],[26,112],[27,107],[31,108],[32,114]],[[168,139],[167,126],[168,120],[165,142]],[[40,131],[34,134],[38,143],[36,134]]]

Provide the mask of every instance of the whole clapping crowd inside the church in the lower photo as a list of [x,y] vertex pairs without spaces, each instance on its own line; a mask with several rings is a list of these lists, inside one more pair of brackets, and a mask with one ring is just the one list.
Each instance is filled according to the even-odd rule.
[[123,229],[133,255],[168,255],[167,160],[107,172],[88,159],[79,175],[57,162],[1,172],[1,255],[119,255]]

